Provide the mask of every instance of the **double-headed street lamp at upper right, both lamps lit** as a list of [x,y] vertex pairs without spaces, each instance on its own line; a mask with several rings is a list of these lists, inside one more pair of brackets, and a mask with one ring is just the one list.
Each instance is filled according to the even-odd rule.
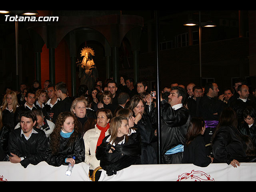
[[184,26],[198,26],[199,27],[199,66],[200,66],[200,86],[202,86],[202,60],[201,60],[201,46],[202,46],[202,27],[216,27],[216,24],[212,21],[201,22],[201,12],[199,11],[199,22],[192,19],[185,22]]

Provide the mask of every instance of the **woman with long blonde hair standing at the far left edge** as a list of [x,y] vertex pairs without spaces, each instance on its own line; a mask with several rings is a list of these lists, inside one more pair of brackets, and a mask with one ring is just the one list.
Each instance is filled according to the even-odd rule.
[[4,95],[2,105],[2,122],[14,129],[14,113],[19,106],[17,94],[13,90],[8,90]]

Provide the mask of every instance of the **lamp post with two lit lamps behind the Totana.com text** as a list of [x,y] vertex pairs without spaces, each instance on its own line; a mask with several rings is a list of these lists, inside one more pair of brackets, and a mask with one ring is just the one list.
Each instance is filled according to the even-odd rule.
[[[37,11],[10,11],[10,10],[0,10],[1,14],[15,14],[15,17],[20,15],[32,16],[38,15]],[[15,51],[16,51],[16,90],[19,88],[19,61],[18,61],[18,20],[15,20]]]

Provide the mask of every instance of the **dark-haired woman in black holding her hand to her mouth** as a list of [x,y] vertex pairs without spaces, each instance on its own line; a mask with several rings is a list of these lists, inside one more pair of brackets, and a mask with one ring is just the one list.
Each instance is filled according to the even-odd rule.
[[133,112],[134,128],[141,136],[141,163],[156,164],[156,152],[152,144],[156,142],[154,128],[148,115],[145,113],[145,102],[140,96],[133,96],[126,107]]

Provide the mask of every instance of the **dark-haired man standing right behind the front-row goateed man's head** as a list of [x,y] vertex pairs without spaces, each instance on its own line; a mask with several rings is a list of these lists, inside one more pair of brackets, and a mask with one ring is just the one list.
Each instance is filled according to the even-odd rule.
[[16,126],[18,124],[19,115],[21,114],[22,111],[36,109],[36,106],[34,105],[35,98],[36,98],[36,94],[33,90],[28,90],[26,92],[26,95],[24,97],[24,99],[26,101],[25,104],[16,108],[16,111],[14,112],[14,126]]

